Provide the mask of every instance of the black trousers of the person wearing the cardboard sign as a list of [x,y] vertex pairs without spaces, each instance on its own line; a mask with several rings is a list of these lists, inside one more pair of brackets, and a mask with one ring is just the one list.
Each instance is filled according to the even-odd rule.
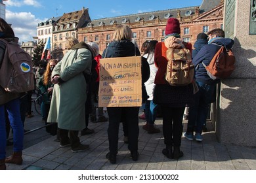
[[128,149],[130,151],[138,150],[139,137],[139,107],[108,107],[108,142],[110,154],[117,154],[118,151],[118,133],[120,122],[127,124],[127,133],[129,138]]

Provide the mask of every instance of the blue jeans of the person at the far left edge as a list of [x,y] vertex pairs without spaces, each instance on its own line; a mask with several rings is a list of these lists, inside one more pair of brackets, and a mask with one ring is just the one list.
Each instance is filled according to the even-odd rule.
[[20,118],[20,99],[14,99],[5,105],[0,105],[0,159],[5,159],[6,156],[7,134],[5,130],[5,107],[7,108],[13,130],[13,151],[20,152],[23,150],[24,131]]

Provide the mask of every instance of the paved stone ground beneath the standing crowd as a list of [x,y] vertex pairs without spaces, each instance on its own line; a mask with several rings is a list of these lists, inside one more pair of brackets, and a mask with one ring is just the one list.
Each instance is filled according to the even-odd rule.
[[[35,114],[35,112],[33,112]],[[41,116],[35,114],[26,119],[26,129],[35,129],[43,126]],[[161,118],[156,120],[156,126],[161,133],[148,134],[142,129],[143,120],[139,127],[139,160],[133,161],[129,155],[127,144],[123,143],[122,125],[119,127],[119,152],[117,163],[112,165],[106,158],[108,152],[108,122],[89,123],[89,128],[95,129],[92,135],[80,137],[81,142],[90,144],[85,152],[73,153],[69,147],[60,148],[59,142],[39,129],[25,135],[23,165],[7,165],[7,169],[57,169],[57,170],[255,170],[256,148],[220,144],[217,142],[213,127],[208,122],[209,132],[203,133],[203,142],[188,141],[182,137],[181,150],[184,157],[181,159],[167,159],[161,150],[163,133]],[[184,131],[186,121],[184,121]],[[7,155],[12,147],[7,147]]]

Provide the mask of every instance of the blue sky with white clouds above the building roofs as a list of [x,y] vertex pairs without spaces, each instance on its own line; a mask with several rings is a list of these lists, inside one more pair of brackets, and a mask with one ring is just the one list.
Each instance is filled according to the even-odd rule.
[[[37,25],[64,13],[89,8],[91,20],[128,14],[200,6],[203,0],[7,0],[5,20],[20,42],[33,41]],[[215,0],[213,0],[215,1]]]

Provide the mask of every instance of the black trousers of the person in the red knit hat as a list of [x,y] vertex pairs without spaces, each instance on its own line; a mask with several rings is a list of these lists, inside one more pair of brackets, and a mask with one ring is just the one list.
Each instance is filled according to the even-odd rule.
[[174,108],[161,106],[165,145],[181,146],[181,135],[183,131],[182,118],[184,109],[185,107]]

